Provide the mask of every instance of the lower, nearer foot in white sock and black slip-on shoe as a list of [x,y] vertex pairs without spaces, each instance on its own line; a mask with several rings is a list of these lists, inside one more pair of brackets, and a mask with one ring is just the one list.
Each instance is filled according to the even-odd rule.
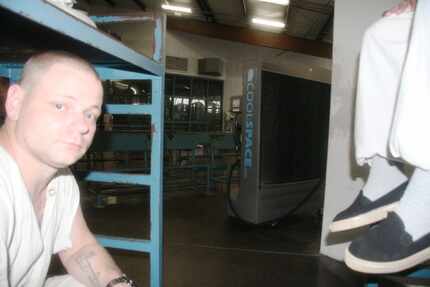
[[346,264],[365,273],[393,273],[430,259],[430,171],[416,168],[387,219],[352,241]]

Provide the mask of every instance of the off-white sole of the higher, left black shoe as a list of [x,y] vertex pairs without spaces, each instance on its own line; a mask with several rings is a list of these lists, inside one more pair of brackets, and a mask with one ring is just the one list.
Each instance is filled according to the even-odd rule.
[[330,224],[329,230],[330,232],[345,231],[381,221],[387,217],[388,212],[396,208],[397,204],[398,202],[394,202],[354,217],[334,221]]

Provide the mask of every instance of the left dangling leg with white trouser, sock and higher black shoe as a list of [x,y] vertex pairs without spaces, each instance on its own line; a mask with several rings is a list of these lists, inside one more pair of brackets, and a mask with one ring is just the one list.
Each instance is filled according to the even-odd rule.
[[355,157],[371,166],[353,203],[338,213],[331,232],[368,225],[386,217],[400,199],[406,177],[387,158],[398,83],[407,51],[412,13],[385,17],[365,33],[355,108]]

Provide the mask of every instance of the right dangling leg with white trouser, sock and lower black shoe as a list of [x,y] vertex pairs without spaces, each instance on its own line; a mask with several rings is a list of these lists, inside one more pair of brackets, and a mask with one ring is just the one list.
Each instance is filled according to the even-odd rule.
[[393,273],[430,259],[429,25],[430,1],[418,1],[389,146],[416,168],[394,212],[346,250],[356,271]]

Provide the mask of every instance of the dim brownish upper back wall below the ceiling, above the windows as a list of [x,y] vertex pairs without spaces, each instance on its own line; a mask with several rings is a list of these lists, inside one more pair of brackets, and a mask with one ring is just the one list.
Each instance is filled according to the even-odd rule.
[[[149,57],[153,54],[153,23],[113,23],[103,25],[115,32],[129,47]],[[166,55],[188,59],[188,71],[167,70],[168,73],[199,76],[198,59],[216,57],[224,61],[224,73],[216,79],[224,80],[224,111],[230,110],[230,97],[242,95],[242,71],[249,61],[276,65],[292,76],[330,83],[331,59],[292,53],[279,49],[252,46],[188,33],[168,30]],[[208,76],[205,76],[208,77]],[[210,78],[210,77],[209,77]]]

